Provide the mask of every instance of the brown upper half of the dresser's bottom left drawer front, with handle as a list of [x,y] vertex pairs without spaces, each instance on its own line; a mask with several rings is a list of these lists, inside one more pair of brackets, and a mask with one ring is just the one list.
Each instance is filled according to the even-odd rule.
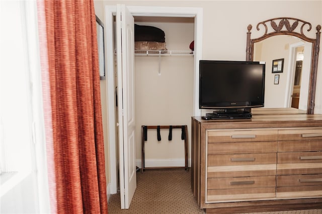
[[275,176],[208,178],[207,189],[275,187]]

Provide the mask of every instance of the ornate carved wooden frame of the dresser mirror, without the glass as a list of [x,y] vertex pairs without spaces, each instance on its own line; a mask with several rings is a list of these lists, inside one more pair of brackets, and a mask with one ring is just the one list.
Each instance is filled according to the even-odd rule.
[[[293,23],[290,24],[290,21]],[[254,38],[254,39],[251,39],[252,25],[248,25],[247,27],[248,32],[247,32],[246,61],[253,61],[254,45],[256,42],[260,42],[272,36],[290,35],[290,36],[298,37],[306,42],[312,43],[310,78],[309,78],[306,114],[313,114],[321,26],[320,25],[316,26],[316,38],[312,39],[312,38],[306,37],[303,33],[304,26],[307,26],[308,28],[307,31],[311,30],[312,28],[311,24],[300,19],[289,18],[289,17],[269,19],[257,24],[256,29],[258,31],[260,30],[259,28],[260,25],[263,25],[265,27],[265,33],[261,37]],[[267,27],[268,25],[271,26],[270,29],[268,29]],[[296,29],[297,27],[298,29]],[[294,30],[300,30],[300,33],[295,32]]]

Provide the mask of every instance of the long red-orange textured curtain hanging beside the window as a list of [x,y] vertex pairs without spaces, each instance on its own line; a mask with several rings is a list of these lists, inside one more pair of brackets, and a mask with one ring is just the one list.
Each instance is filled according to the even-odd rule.
[[94,2],[43,1],[57,213],[107,213]]

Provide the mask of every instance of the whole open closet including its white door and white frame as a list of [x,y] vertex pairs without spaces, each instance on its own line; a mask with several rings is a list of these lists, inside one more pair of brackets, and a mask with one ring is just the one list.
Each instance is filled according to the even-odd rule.
[[[125,197],[125,200],[121,198],[121,207],[128,208],[131,194],[135,190],[135,184],[132,181],[136,176],[133,170],[135,171],[135,165],[141,167],[141,126],[188,125],[188,136],[190,136],[191,116],[200,114],[196,94],[198,94],[198,65],[202,53],[202,9],[119,6],[106,6],[105,9],[106,38],[113,38],[113,40],[106,39],[110,186],[113,194],[116,193],[117,184],[120,183],[120,193],[122,198]],[[124,17],[121,14],[124,14]],[[116,18],[120,21],[116,22]],[[165,32],[168,51],[159,56],[149,53],[129,55],[128,53],[132,51],[130,50],[131,46],[127,44],[131,43],[129,35],[132,31],[134,32],[135,24],[162,29]],[[132,25],[133,30],[130,29]],[[120,38],[122,40],[124,38],[124,46],[123,43],[120,44]],[[194,53],[190,50],[192,41],[195,41]],[[116,49],[118,51],[115,51]],[[128,63],[128,60],[131,62]],[[134,61],[134,65],[132,61]],[[121,64],[119,64],[120,62]],[[115,67],[117,64],[119,67]],[[132,65],[134,69],[132,69]],[[135,84],[133,85],[135,87],[133,90],[126,88],[132,83],[132,81],[127,82],[127,76],[134,77]],[[119,85],[117,89],[116,85]],[[129,93],[133,99],[124,99],[124,97],[128,97]],[[111,105],[111,103],[116,103],[116,99],[118,99],[119,106]],[[130,103],[128,101],[135,102],[134,108],[126,107]],[[120,112],[122,103],[123,110]],[[135,112],[129,111],[131,109],[135,109]],[[135,138],[132,137],[132,131],[128,135],[129,132],[126,131],[128,126],[124,126],[124,123],[133,124],[134,120],[128,120],[129,114],[131,117],[132,115],[135,117],[135,130],[133,130]],[[118,118],[121,118],[122,121],[117,121]],[[180,131],[178,130],[178,132]],[[181,133],[174,131],[172,141],[168,141],[168,134],[167,130],[160,132],[162,141],[157,141],[156,135],[153,137],[152,133],[147,133],[149,142],[145,144],[145,149],[151,152],[145,153],[146,167],[184,166],[184,141],[181,140]],[[126,140],[125,137],[129,140]],[[135,139],[135,148],[133,148],[133,139]],[[188,139],[188,151],[190,151],[189,141]],[[124,149],[125,146],[129,150]],[[117,181],[118,172],[120,173],[119,182]],[[127,193],[127,191],[131,191],[131,193]]]

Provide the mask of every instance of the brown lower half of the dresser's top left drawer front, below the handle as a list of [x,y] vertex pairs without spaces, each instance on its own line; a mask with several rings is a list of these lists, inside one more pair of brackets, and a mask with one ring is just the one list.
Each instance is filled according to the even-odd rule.
[[243,154],[277,152],[277,141],[208,143],[208,154]]

